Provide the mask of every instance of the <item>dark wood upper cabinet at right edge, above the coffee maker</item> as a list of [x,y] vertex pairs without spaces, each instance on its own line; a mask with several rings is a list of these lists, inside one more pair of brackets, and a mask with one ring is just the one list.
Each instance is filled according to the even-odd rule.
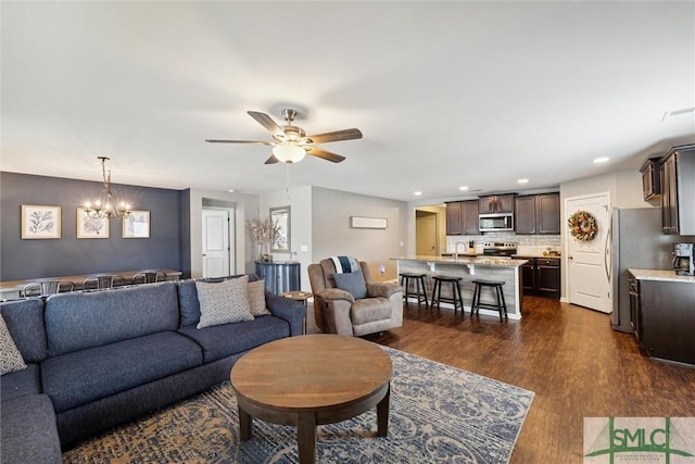
[[695,235],[695,145],[673,147],[661,159],[660,171],[664,233]]

